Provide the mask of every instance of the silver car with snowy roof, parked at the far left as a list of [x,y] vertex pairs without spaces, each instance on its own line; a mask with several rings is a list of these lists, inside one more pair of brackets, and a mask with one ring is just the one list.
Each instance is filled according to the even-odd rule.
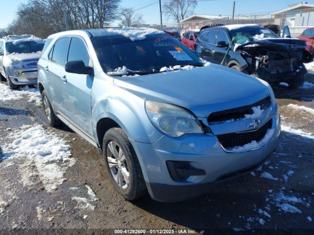
[[0,40],[0,79],[11,89],[37,84],[37,62],[45,42],[33,35],[8,35]]

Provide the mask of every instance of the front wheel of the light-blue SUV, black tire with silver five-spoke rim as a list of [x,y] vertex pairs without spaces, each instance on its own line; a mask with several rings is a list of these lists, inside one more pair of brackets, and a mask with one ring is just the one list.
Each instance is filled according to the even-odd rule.
[[136,153],[121,128],[111,128],[104,136],[105,168],[113,187],[126,200],[146,194],[146,185]]

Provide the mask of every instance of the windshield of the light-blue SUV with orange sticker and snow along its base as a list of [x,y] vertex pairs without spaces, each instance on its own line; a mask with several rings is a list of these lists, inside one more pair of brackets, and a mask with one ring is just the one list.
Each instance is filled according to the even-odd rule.
[[196,54],[167,34],[147,35],[138,41],[122,35],[94,37],[92,41],[105,72],[125,67],[151,73],[163,67],[203,65]]

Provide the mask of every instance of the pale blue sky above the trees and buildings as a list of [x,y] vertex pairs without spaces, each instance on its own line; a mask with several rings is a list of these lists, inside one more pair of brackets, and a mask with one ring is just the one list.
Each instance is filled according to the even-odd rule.
[[[278,11],[287,8],[288,4],[301,1],[303,0],[236,0],[235,15]],[[25,2],[26,0],[0,0],[0,28],[6,27],[12,22],[18,6]],[[146,5],[144,3],[147,2],[152,2],[152,0],[122,0],[122,6],[134,7],[134,9],[137,9],[143,5]],[[314,0],[308,0],[308,3],[314,4]],[[233,0],[199,1],[198,6],[195,8],[194,12],[196,14],[231,15],[232,5]],[[143,14],[146,24],[159,23],[158,4],[137,12]],[[172,22],[172,20],[164,19],[164,22]]]

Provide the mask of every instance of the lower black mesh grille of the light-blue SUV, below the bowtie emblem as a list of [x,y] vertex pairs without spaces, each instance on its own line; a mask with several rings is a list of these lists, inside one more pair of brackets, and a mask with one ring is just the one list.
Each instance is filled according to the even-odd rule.
[[234,147],[243,146],[252,141],[261,141],[268,129],[272,127],[272,119],[267,121],[259,129],[248,131],[248,132],[239,132],[239,133],[229,133],[223,135],[217,135],[218,141],[225,149],[230,149]]

